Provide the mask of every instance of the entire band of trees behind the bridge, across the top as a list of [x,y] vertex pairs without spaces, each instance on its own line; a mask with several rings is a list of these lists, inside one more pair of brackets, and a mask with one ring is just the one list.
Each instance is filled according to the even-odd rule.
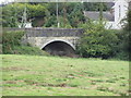
[[[90,5],[88,5],[90,4]],[[105,3],[104,10],[107,10]],[[86,8],[87,7],[87,8]],[[2,7],[3,27],[17,27],[25,22],[32,22],[34,27],[78,27],[85,22],[83,11],[99,11],[99,3],[59,2],[57,20],[57,3],[11,3]],[[26,16],[26,19],[24,17]],[[40,25],[39,25],[40,24]]]

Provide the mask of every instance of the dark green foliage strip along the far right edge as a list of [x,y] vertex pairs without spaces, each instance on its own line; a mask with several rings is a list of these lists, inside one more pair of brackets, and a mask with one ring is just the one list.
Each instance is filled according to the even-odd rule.
[[131,60],[131,9],[129,9],[127,19],[122,21],[123,29],[118,34],[119,38],[119,52],[117,58],[121,60]]

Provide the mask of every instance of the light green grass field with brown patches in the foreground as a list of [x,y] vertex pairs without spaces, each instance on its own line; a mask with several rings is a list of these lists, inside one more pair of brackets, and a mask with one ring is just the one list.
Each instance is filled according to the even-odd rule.
[[2,56],[3,96],[127,96],[129,62]]

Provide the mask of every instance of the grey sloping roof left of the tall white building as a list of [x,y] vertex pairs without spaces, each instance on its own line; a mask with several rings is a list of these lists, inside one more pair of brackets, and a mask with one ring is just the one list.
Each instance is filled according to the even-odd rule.
[[[88,19],[92,20],[98,20],[99,17],[99,12],[95,11],[84,11],[84,15],[87,16]],[[103,17],[107,21],[115,21],[115,15],[111,14],[109,11],[108,12],[103,12]]]

